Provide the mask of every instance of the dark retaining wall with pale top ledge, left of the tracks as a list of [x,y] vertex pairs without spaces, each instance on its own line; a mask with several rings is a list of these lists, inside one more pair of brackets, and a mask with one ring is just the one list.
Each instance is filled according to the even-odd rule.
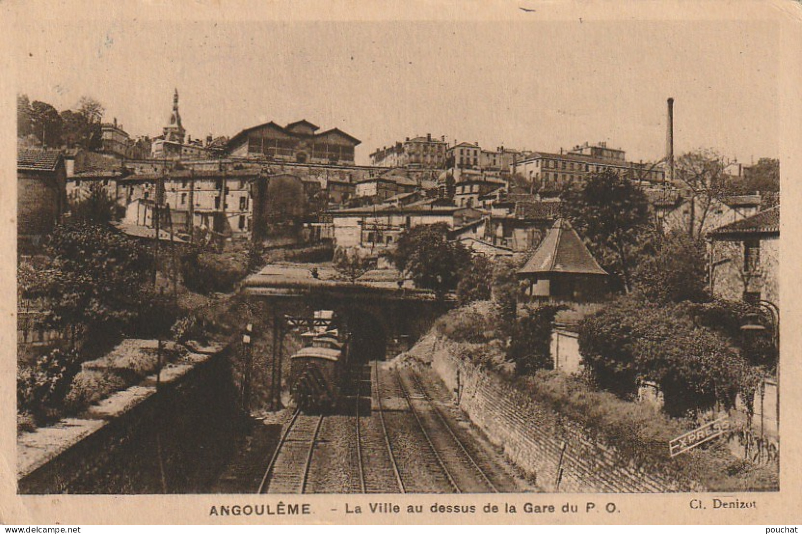
[[75,418],[18,438],[18,492],[202,492],[238,434],[229,359],[192,353]]

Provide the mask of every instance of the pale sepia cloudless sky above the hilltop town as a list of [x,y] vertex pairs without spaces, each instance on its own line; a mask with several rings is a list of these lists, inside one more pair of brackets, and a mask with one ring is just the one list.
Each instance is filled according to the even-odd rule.
[[[524,2],[522,2],[524,3]],[[538,4],[539,5],[539,4]],[[714,148],[777,157],[779,31],[768,20],[314,22],[104,20],[32,24],[17,92],[59,110],[91,96],[132,136],[160,134],[180,94],[192,137],[306,119],[377,147],[431,133],[557,152],[606,141],[633,161]]]

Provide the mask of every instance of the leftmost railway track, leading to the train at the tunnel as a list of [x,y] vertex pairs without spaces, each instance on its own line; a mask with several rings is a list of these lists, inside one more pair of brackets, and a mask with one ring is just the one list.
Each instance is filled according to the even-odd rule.
[[257,493],[304,493],[318,441],[322,415],[296,410],[268,463]]

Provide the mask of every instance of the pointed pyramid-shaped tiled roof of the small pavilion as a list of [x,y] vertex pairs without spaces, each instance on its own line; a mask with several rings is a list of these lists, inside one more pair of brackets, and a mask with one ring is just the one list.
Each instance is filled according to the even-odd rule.
[[559,272],[572,275],[606,275],[576,230],[565,219],[557,219],[519,275]]

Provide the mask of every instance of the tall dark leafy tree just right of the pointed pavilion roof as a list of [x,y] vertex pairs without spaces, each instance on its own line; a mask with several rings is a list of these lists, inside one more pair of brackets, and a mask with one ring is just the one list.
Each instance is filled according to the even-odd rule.
[[632,289],[632,271],[649,230],[646,196],[613,170],[591,174],[584,185],[561,194],[561,210],[590,251],[622,289]]

